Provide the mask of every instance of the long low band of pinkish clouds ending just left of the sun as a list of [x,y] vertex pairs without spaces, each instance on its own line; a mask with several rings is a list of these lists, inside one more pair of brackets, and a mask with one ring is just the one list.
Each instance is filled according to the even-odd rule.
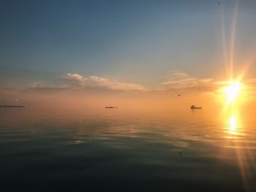
[[121,82],[115,79],[98,76],[82,76],[75,73],[67,73],[63,75],[59,85],[48,85],[44,82],[34,82],[32,86],[33,88],[108,88],[111,90],[121,91],[165,91],[168,89],[202,88],[213,84],[214,80],[211,78],[200,79],[192,77],[186,72],[173,70],[167,72],[165,74],[165,80],[160,82],[159,85],[154,88],[145,88],[143,85],[136,83]]

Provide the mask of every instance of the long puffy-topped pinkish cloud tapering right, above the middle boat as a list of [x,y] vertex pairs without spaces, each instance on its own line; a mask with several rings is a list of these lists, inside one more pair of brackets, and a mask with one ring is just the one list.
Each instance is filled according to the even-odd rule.
[[110,80],[105,77],[89,76],[83,77],[80,74],[66,74],[64,75],[64,80],[68,82],[71,88],[86,88],[86,87],[105,87],[113,90],[140,90],[145,91],[142,85],[129,83],[129,82],[119,82],[117,80]]

